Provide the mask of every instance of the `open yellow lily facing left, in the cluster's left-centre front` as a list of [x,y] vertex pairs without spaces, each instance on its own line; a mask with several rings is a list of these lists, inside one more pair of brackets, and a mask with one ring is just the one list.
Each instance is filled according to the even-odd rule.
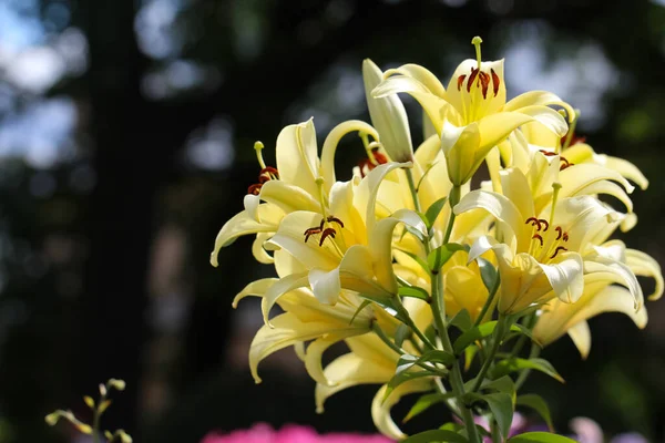
[[[400,223],[424,235],[422,219],[411,210],[400,209],[376,219],[377,196],[386,175],[408,166],[388,163],[372,169],[367,177],[336,183],[329,206],[320,213],[296,212],[284,217],[266,247],[287,253],[298,264],[299,272],[283,276],[266,298],[267,310],[285,292],[310,286],[324,303],[334,305],[341,289],[362,293],[375,300],[397,295],[392,270],[392,233]],[[311,240],[310,240],[311,237]]]

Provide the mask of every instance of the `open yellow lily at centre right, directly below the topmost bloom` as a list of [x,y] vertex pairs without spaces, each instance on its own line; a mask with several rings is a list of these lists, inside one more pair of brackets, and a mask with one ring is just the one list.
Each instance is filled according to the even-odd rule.
[[529,182],[518,168],[502,171],[501,185],[503,195],[473,190],[454,207],[456,214],[482,208],[497,219],[500,241],[479,238],[469,258],[493,249],[501,274],[499,311],[519,312],[548,301],[552,291],[564,302],[576,301],[584,287],[580,251],[614,212],[591,196],[557,198],[560,185],[549,207],[538,210]]

